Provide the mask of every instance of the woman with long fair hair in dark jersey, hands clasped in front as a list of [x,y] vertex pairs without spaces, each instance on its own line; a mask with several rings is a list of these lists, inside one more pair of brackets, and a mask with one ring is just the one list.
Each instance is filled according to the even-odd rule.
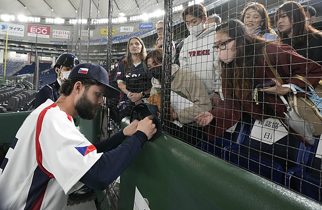
[[144,63],[146,55],[142,39],[131,37],[127,44],[125,58],[121,59],[114,78],[121,89],[120,102],[127,101],[134,105],[144,102],[147,98],[152,87],[152,76]]

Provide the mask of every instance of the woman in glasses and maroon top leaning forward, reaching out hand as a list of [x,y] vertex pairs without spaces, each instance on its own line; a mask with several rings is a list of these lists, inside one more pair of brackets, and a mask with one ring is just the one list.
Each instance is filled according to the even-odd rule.
[[[265,42],[249,33],[240,20],[228,20],[216,29],[214,48],[221,60],[224,100],[220,101],[218,108],[196,117],[199,125],[208,125],[206,133],[210,140],[220,137],[238,122],[242,112],[259,120],[270,117],[285,120],[286,106],[278,95],[287,94],[290,88],[282,87],[264,54],[284,84],[294,84],[305,90],[305,83],[295,78],[296,74],[306,77],[313,87],[322,76],[320,65],[298,55],[289,45]],[[270,87],[259,89],[258,93],[254,91],[264,83]],[[297,94],[304,96],[303,93]]]

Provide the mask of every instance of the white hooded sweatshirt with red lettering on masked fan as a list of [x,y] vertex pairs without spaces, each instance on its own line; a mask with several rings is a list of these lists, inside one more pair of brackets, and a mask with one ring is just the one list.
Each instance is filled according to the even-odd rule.
[[189,35],[179,54],[180,67],[195,72],[207,89],[209,97],[221,88],[219,57],[213,49],[215,25],[206,25],[206,30],[198,36]]

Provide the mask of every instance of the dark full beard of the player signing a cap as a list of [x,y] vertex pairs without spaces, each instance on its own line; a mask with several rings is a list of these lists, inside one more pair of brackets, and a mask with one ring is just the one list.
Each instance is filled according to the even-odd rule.
[[86,92],[84,92],[82,97],[76,102],[75,110],[80,118],[84,120],[93,120],[100,107],[101,106],[97,106],[88,100]]

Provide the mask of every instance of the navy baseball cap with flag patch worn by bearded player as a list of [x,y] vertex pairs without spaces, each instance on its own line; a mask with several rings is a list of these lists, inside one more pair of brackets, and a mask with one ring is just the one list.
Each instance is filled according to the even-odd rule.
[[75,66],[68,78],[90,78],[106,86],[104,96],[114,98],[120,95],[120,91],[109,85],[107,71],[98,64],[82,63]]

